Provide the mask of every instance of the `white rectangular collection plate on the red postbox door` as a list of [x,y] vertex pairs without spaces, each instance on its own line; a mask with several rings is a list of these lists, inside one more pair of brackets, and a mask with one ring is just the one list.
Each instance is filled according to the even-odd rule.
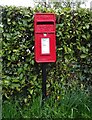
[[42,54],[50,54],[49,38],[41,38],[41,53]]

